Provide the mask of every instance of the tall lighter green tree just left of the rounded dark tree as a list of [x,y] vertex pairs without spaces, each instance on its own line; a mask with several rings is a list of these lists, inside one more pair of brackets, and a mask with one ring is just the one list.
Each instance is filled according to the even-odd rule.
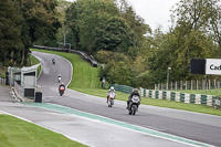
[[74,33],[75,46],[92,53],[97,30],[104,30],[118,10],[112,0],[77,0],[66,11],[66,24]]

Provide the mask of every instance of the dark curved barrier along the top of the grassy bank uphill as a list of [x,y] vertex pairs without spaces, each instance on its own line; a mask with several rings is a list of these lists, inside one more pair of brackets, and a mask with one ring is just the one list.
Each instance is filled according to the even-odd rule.
[[94,60],[94,57],[92,55],[90,56],[86,53],[81,52],[81,51],[60,49],[60,48],[50,48],[50,46],[40,46],[40,45],[33,45],[33,49],[76,53],[76,54],[80,54],[86,62],[91,63],[92,66],[97,67],[97,65],[98,65],[98,63]]

